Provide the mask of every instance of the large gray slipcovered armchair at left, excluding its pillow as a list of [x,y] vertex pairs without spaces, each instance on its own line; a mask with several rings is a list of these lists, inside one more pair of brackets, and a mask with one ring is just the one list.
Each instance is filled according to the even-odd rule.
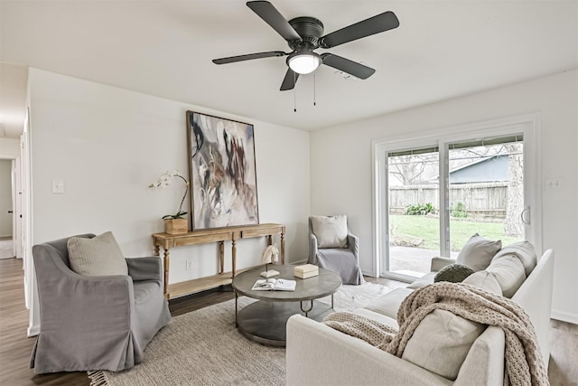
[[68,240],[33,247],[41,325],[30,367],[35,373],[129,369],[171,320],[161,259],[126,259],[128,276],[79,275],[70,269]]

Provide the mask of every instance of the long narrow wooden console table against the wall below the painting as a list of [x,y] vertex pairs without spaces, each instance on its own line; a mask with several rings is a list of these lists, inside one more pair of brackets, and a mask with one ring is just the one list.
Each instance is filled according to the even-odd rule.
[[[208,231],[190,231],[183,234],[154,233],[154,256],[160,256],[160,249],[164,250],[164,297],[167,300],[172,297],[181,297],[204,289],[214,288],[232,282],[237,271],[237,240],[253,237],[267,238],[267,244],[271,245],[272,236],[281,235],[281,264],[285,262],[285,226],[282,224],[259,224],[241,227],[220,228]],[[231,271],[225,272],[225,241],[232,241],[232,264]],[[219,273],[205,278],[196,278],[169,285],[169,250],[174,247],[187,245],[206,244],[209,242],[219,243]]]

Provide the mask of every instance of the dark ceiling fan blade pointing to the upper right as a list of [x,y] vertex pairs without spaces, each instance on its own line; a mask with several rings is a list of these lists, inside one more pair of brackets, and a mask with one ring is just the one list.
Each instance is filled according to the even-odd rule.
[[376,33],[383,33],[399,26],[396,14],[391,11],[377,14],[356,24],[341,28],[320,38],[322,48],[331,48]]

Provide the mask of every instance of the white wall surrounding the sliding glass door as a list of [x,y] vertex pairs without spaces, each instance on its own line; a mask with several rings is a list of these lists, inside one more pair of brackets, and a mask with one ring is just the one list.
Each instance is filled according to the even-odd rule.
[[578,70],[312,132],[312,214],[348,214],[371,272],[371,141],[528,113],[541,118],[542,178],[564,180],[562,191],[542,193],[543,247],[555,249],[553,316],[578,323]]

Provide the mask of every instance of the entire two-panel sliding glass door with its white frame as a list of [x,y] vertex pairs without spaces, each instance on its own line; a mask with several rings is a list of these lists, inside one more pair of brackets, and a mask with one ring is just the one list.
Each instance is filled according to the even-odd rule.
[[[455,258],[475,233],[503,245],[532,240],[525,132],[528,126],[382,144],[376,251],[380,276],[411,280],[433,256]],[[457,137],[457,138],[456,138]]]

